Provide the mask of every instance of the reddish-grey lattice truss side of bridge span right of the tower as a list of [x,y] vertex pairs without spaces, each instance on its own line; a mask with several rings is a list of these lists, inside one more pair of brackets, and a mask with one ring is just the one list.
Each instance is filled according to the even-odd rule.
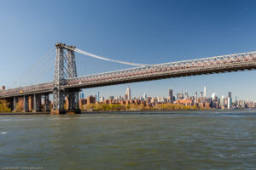
[[[147,65],[120,71],[110,71],[85,77],[67,79],[66,87],[80,86],[94,82],[116,81],[116,79],[132,79],[136,77],[151,77],[156,75],[171,75],[177,73],[189,73],[193,71],[207,71],[214,69],[230,68],[232,66],[255,64],[256,52],[246,54],[231,54],[204,59],[191,59],[185,61],[164,63],[159,65]],[[254,65],[253,64],[253,65]],[[81,85],[82,86],[82,85]]]

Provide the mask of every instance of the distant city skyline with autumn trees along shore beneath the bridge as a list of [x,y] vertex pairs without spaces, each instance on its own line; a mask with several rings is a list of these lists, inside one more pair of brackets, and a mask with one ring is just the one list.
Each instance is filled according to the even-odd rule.
[[[178,110],[190,109],[190,110],[209,110],[209,109],[255,109],[256,101],[251,101],[249,99],[237,99],[237,96],[232,98],[232,92],[228,92],[227,95],[217,96],[216,93],[212,95],[207,95],[207,87],[203,88],[198,95],[189,94],[186,92],[177,92],[173,94],[173,90],[169,89],[167,96],[150,96],[143,94],[143,96],[131,96],[131,88],[126,88],[125,94],[119,96],[103,96],[99,97],[95,95],[90,95],[87,97],[82,97],[82,93],[79,99],[79,108],[83,111],[101,111],[107,108],[116,107],[117,111],[120,110],[137,110],[143,111],[145,109],[151,110],[173,110],[176,108]],[[97,100],[99,99],[99,100]],[[66,100],[67,102],[67,100]],[[68,104],[67,104],[68,105]]]

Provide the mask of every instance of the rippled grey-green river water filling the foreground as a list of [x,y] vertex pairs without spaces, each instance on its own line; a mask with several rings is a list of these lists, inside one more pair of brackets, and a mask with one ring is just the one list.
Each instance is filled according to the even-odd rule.
[[0,169],[256,169],[256,111],[0,116]]

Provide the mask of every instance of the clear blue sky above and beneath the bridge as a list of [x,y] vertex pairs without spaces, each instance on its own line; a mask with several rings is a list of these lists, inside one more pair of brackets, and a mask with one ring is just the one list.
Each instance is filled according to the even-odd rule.
[[[0,1],[0,84],[9,86],[55,42],[137,63],[163,63],[256,50],[256,1]],[[79,75],[123,68],[77,54]],[[86,70],[87,69],[87,70]],[[53,71],[41,81],[53,80]],[[131,83],[131,93],[189,90],[256,99],[256,71]],[[39,77],[40,78],[40,77]],[[85,89],[105,96],[128,84]]]

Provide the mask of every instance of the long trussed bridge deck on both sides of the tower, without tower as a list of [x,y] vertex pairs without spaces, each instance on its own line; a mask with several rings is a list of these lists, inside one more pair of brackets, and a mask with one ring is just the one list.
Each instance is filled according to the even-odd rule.
[[[121,71],[111,71],[96,75],[76,77],[65,80],[61,89],[96,88],[128,82],[143,82],[172,77],[188,77],[202,74],[213,74],[230,71],[256,69],[256,52],[232,54],[205,59],[147,65]],[[32,86],[10,88],[0,91],[0,99],[24,96],[26,94],[51,94],[54,82],[45,82]]]

